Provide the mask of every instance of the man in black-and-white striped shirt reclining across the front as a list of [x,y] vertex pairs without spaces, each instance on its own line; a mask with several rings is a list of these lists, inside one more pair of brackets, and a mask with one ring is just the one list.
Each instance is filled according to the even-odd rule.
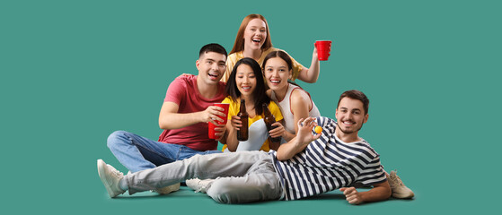
[[[123,176],[98,160],[98,173],[110,197],[154,190],[198,177],[216,178],[203,188],[216,202],[296,200],[335,189],[351,204],[388,199],[391,188],[378,153],[357,133],[368,119],[369,100],[358,90],[344,92],[337,121],[326,117],[299,120],[296,137],[277,151],[196,155]],[[313,133],[314,126],[322,127]],[[366,192],[347,187],[373,185]]]

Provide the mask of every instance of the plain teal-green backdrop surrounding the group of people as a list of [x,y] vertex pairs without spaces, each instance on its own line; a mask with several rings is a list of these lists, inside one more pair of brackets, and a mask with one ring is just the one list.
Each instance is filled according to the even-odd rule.
[[[471,214],[500,201],[498,1],[1,1],[3,211],[55,214]],[[197,73],[198,49],[228,51],[261,13],[274,47],[310,65],[333,40],[319,81],[299,82],[323,116],[363,90],[360,135],[398,169],[412,201],[349,205],[338,191],[295,202],[217,204],[183,189],[110,199],[96,159],[126,130],[151,139],[169,83]]]

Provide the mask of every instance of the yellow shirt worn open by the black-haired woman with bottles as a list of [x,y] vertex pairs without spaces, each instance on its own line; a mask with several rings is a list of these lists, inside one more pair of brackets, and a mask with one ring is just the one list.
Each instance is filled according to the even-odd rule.
[[[233,100],[230,99],[230,97],[227,97],[222,101],[222,103],[230,104],[230,107],[228,107],[228,120],[232,120],[232,116],[237,116],[237,114],[239,114],[239,109],[241,107],[240,100],[233,102]],[[282,114],[280,112],[280,108],[277,106],[276,102],[274,102],[272,100],[270,101],[269,110],[270,110],[270,113],[272,113],[272,115],[276,117],[277,122],[283,119]],[[256,122],[262,118],[263,118],[263,114],[256,115],[252,118],[250,117],[248,119],[249,126],[251,126],[254,122]],[[223,150],[225,150],[225,149],[226,149],[226,144],[223,146]],[[263,145],[261,146],[260,150],[265,150],[265,151],[270,150],[270,140],[269,139],[267,139],[267,141],[263,142]]]

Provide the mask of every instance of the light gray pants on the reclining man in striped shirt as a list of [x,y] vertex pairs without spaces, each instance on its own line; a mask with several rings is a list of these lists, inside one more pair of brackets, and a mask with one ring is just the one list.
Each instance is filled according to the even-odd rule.
[[220,203],[278,200],[283,194],[273,155],[263,151],[195,155],[124,176],[129,193],[154,190],[198,177],[216,178],[207,195]]

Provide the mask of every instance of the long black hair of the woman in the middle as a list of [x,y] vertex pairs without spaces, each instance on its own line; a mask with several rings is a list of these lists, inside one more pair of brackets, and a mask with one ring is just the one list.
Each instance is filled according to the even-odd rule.
[[239,65],[241,64],[247,64],[251,66],[254,76],[256,77],[256,87],[252,92],[254,99],[253,104],[256,114],[261,115],[263,113],[263,107],[261,106],[261,104],[269,104],[270,99],[267,96],[265,81],[263,80],[263,73],[261,72],[260,64],[258,64],[258,62],[256,62],[252,58],[244,57],[241,60],[237,61],[235,66],[233,66],[232,73],[230,73],[230,77],[228,77],[228,81],[226,81],[226,96],[230,96],[233,102],[237,102],[237,99],[241,96],[241,91],[239,91],[239,89],[237,88],[237,83],[235,82],[237,68],[239,68]]

